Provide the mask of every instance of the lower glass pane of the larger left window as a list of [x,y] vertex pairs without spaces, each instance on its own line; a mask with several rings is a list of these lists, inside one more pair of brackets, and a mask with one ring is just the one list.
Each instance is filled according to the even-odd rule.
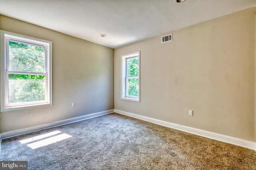
[[9,103],[45,100],[45,76],[9,74]]

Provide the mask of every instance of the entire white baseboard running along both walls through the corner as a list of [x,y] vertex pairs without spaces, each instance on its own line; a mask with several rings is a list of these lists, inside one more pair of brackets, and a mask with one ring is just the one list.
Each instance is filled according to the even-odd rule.
[[26,134],[26,133],[31,133],[31,132],[34,132],[34,131],[39,131],[39,130],[42,130],[42,129],[48,129],[48,128],[56,127],[56,126],[60,126],[60,125],[66,125],[66,124],[69,124],[69,123],[74,123],[74,122],[77,122],[77,121],[82,121],[82,120],[85,120],[85,119],[90,119],[90,118],[93,118],[93,117],[98,117],[98,116],[106,115],[106,114],[113,113],[113,112],[119,113],[119,114],[122,114],[122,115],[126,115],[126,116],[129,116],[129,117],[134,117],[136,119],[141,119],[141,120],[144,120],[144,121],[148,121],[148,122],[151,122],[151,123],[155,123],[155,124],[158,124],[158,125],[170,127],[172,129],[177,129],[177,130],[180,130],[180,131],[192,133],[192,134],[199,135],[199,136],[202,136],[202,137],[207,137],[207,138],[210,138],[210,139],[215,139],[215,140],[218,140],[218,141],[222,141],[222,142],[226,142],[226,143],[230,143],[230,144],[238,145],[238,146],[241,146],[241,147],[256,150],[256,143],[255,142],[246,141],[244,139],[230,137],[230,136],[222,135],[222,134],[218,134],[218,133],[213,133],[213,132],[205,131],[205,130],[202,130],[202,129],[196,129],[196,128],[193,128],[193,127],[179,125],[179,124],[176,124],[176,123],[170,123],[170,122],[167,122],[167,121],[162,121],[162,120],[158,120],[158,119],[154,119],[154,118],[150,118],[150,117],[146,117],[146,116],[142,116],[142,115],[137,115],[137,114],[134,114],[134,113],[128,113],[126,111],[121,111],[121,110],[117,110],[117,109],[101,111],[101,112],[98,112],[98,113],[92,113],[92,114],[89,114],[89,115],[74,117],[74,118],[65,119],[65,120],[61,120],[61,121],[56,121],[56,122],[52,122],[52,123],[47,123],[47,124],[43,124],[43,125],[38,125],[38,126],[34,126],[34,127],[28,127],[28,128],[24,128],[24,129],[18,129],[18,130],[14,130],[14,131],[0,133],[0,149],[1,149],[2,139],[14,137],[14,136],[18,136],[18,135],[22,135],[22,134]]

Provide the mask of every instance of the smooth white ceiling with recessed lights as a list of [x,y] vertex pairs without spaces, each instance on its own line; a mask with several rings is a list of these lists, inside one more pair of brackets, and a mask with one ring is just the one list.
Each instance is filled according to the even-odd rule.
[[0,14],[117,48],[252,6],[256,0],[0,0]]

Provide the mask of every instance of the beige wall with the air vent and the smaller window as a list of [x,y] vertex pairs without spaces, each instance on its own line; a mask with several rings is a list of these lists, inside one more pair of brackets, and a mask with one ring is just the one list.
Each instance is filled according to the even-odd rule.
[[[173,31],[172,42],[161,44],[157,36],[115,49],[115,109],[256,141],[255,12]],[[120,99],[120,56],[135,51],[141,102]]]

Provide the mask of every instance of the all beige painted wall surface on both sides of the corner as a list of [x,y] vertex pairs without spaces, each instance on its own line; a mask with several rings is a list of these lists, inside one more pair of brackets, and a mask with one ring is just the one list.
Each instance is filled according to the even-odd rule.
[[[256,141],[255,12],[173,31],[172,42],[157,36],[115,50],[0,15],[0,29],[53,42],[53,106],[0,113],[0,133],[113,109],[115,102],[122,111]],[[120,56],[135,51],[141,102],[120,99]]]

